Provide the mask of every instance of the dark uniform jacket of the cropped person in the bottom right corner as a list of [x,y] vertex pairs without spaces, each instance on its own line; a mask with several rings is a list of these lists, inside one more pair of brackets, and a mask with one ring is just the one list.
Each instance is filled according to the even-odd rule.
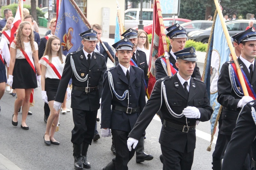
[[239,114],[236,128],[233,130],[225,152],[222,169],[242,169],[250,148],[253,159],[256,159],[256,125],[252,117],[252,108],[255,111],[256,100],[247,103]]

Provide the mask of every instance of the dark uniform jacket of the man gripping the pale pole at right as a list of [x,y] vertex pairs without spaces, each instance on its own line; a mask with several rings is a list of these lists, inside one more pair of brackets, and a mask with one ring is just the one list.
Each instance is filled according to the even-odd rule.
[[[245,64],[238,58],[238,62],[240,64],[241,69],[243,69],[245,75],[247,76],[249,82],[252,85],[254,92],[256,92],[256,67],[254,64],[253,77],[251,79],[250,73],[246,68]],[[221,73],[219,74],[218,79],[218,98],[217,101],[219,104],[223,106],[222,109],[222,126],[221,126],[221,134],[231,135],[233,129],[236,126],[236,121],[241,108],[237,108],[237,104],[243,95],[239,96],[234,91],[230,81],[229,74],[229,64],[233,63],[233,61],[227,61],[222,65]],[[237,87],[239,87],[236,82]],[[241,87],[240,87],[241,88]]]

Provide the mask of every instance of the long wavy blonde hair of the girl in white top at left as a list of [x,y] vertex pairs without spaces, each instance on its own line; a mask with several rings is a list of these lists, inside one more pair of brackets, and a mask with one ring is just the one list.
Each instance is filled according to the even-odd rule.
[[25,46],[24,46],[24,41],[23,41],[23,34],[22,34],[22,29],[25,25],[30,25],[30,28],[31,28],[31,33],[30,35],[28,36],[28,39],[29,39],[29,42],[30,42],[30,45],[31,45],[31,49],[32,49],[32,52],[34,53],[35,52],[35,47],[34,47],[34,33],[33,33],[33,30],[32,30],[32,25],[30,24],[30,22],[28,21],[23,21],[19,24],[19,27],[17,29],[17,34],[14,38],[14,41],[15,41],[15,45],[16,45],[16,49],[20,49],[20,50],[25,50]]

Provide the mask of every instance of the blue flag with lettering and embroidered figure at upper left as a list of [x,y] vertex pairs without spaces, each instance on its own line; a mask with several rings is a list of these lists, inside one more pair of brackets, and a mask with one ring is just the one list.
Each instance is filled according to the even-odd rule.
[[80,33],[88,28],[70,1],[61,1],[55,35],[60,38],[64,55],[83,48]]

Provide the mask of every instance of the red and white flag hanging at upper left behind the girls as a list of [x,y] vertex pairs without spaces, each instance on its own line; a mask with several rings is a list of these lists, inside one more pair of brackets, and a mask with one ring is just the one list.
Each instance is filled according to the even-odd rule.
[[19,0],[19,5],[18,5],[17,11],[16,11],[16,15],[12,22],[10,44],[14,40],[14,33],[18,29],[20,22],[22,22],[22,20],[23,20],[22,16],[23,16],[23,1]]

